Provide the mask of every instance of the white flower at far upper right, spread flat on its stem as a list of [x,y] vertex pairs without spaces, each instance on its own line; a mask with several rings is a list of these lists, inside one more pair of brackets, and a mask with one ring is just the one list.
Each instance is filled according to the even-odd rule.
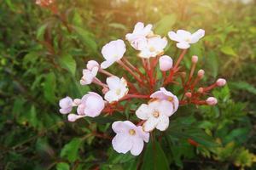
[[169,31],[168,36],[171,40],[177,42],[177,48],[186,49],[190,47],[191,43],[198,42],[201,37],[205,36],[205,31],[199,29],[195,33],[191,34],[189,31],[178,30],[177,33],[174,31]]

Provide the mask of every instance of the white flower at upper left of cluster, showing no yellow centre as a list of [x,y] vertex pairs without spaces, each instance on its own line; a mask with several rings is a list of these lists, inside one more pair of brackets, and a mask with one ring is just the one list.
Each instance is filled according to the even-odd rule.
[[126,51],[125,42],[123,40],[115,40],[108,42],[102,48],[102,55],[106,61],[102,62],[102,69],[107,69],[114,62],[122,59]]

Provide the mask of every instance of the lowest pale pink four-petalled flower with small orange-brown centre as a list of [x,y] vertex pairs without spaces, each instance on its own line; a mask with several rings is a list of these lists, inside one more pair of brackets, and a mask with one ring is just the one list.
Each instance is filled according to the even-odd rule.
[[116,133],[112,140],[113,150],[119,153],[125,154],[130,150],[133,156],[138,156],[143,151],[144,142],[148,143],[149,133],[130,121],[113,122],[112,128]]

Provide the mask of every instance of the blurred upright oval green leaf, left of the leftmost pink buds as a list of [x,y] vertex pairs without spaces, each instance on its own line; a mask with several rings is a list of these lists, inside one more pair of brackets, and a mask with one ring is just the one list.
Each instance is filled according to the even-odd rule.
[[56,78],[53,72],[45,75],[44,80],[44,97],[50,103],[55,103],[55,88],[56,88]]

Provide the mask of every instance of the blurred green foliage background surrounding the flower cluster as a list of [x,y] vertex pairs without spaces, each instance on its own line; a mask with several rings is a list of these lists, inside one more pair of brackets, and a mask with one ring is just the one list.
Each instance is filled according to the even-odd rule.
[[[245,3],[59,0],[59,14],[51,14],[33,1],[0,0],[0,169],[255,169],[256,3]],[[58,100],[99,92],[78,83],[85,62],[102,61],[102,46],[124,39],[137,21],[154,24],[162,36],[205,29],[189,55],[199,56],[203,82],[221,76],[229,86],[214,91],[217,106],[181,107],[169,129],[155,133],[135,157],[116,153],[109,139],[95,135],[112,133],[111,122],[132,117],[115,113],[70,123],[58,113]],[[166,54],[175,58],[170,44]],[[122,75],[116,68],[111,71]]]

